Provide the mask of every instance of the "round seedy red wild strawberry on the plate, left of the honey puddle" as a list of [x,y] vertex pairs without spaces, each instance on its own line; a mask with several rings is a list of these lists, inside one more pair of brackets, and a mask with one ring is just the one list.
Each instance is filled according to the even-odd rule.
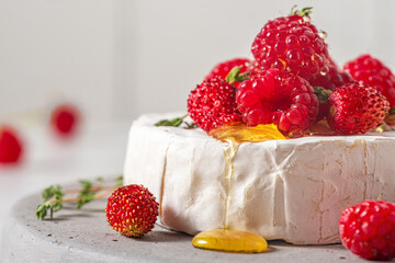
[[128,237],[149,232],[157,220],[158,203],[143,185],[131,184],[109,197],[105,216],[110,226]]

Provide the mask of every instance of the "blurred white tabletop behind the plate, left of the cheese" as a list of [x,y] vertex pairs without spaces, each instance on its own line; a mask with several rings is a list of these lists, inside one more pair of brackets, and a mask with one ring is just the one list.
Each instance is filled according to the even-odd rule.
[[46,127],[26,126],[22,162],[0,164],[0,237],[11,208],[22,197],[52,184],[121,175],[129,126],[131,122],[82,124],[70,140],[55,138]]

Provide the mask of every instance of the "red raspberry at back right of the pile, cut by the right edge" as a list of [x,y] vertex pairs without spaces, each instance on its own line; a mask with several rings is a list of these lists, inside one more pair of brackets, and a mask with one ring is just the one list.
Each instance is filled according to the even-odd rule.
[[376,88],[386,96],[390,106],[395,106],[395,76],[385,65],[370,55],[362,55],[343,67],[354,80]]

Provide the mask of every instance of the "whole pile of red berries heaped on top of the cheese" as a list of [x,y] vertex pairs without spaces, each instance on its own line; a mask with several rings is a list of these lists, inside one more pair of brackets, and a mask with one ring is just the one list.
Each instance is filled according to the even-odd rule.
[[370,55],[341,70],[309,12],[269,21],[252,43],[253,60],[218,64],[189,96],[194,123],[205,132],[234,123],[274,124],[290,137],[324,117],[341,134],[381,125],[395,106],[395,76]]

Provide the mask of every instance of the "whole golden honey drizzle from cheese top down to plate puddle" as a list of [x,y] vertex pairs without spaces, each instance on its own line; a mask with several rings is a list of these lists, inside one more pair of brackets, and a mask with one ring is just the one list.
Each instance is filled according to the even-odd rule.
[[259,235],[230,229],[227,227],[228,206],[230,202],[233,159],[240,144],[260,142],[273,139],[285,139],[275,125],[258,125],[248,127],[242,124],[222,126],[210,134],[212,137],[226,142],[225,157],[225,219],[218,229],[198,233],[192,239],[195,248],[225,252],[259,253],[268,250],[268,242]]

